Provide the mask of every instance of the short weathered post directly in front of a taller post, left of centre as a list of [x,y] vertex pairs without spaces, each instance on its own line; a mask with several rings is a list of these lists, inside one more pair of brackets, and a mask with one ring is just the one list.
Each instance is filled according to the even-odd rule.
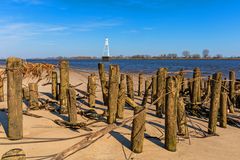
[[71,124],[77,123],[77,107],[76,107],[76,91],[74,88],[67,89],[67,100],[68,100],[68,121]]

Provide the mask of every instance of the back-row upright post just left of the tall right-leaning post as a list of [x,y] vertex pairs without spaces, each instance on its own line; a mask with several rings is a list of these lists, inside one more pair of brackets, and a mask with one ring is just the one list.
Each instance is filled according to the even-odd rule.
[[201,103],[201,71],[199,68],[193,70],[191,102],[192,109],[196,110],[199,108]]

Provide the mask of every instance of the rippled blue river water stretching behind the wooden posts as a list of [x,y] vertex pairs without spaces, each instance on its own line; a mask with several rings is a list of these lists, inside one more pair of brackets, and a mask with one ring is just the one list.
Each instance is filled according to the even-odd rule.
[[[30,62],[41,62],[58,64],[58,60],[28,60]],[[70,60],[70,66],[80,70],[97,70],[100,59],[94,60]],[[213,74],[221,71],[224,76],[228,76],[228,71],[233,69],[240,78],[240,60],[111,60],[103,62],[106,69],[110,64],[120,65],[123,72],[143,72],[146,74],[155,73],[160,67],[166,67],[170,72],[184,70],[193,70],[195,67],[200,67],[203,75]],[[5,61],[0,61],[0,64],[5,64]],[[189,73],[188,76],[191,76]]]

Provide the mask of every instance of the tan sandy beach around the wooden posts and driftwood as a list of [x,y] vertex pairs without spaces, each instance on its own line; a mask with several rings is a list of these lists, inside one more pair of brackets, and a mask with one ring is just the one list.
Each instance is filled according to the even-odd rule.
[[[70,83],[77,85],[80,96],[84,96],[87,91],[88,72],[77,70],[70,71]],[[98,73],[96,73],[98,75]],[[145,79],[147,77],[145,76]],[[24,84],[35,80],[25,79]],[[43,86],[46,80],[39,83],[39,98],[51,99],[51,85]],[[97,98],[95,110],[102,114],[106,110],[106,106],[102,103],[102,93],[99,79],[97,80]],[[7,108],[6,102],[6,81],[5,102],[0,102],[0,108]],[[137,91],[137,75],[134,74],[134,87]],[[136,96],[135,101],[140,102],[141,98]],[[149,99],[150,103],[150,99]],[[81,108],[89,109],[87,99],[79,102]],[[150,104],[148,104],[150,105]],[[23,109],[27,106],[23,103]],[[86,133],[85,130],[77,131],[64,128],[55,124],[52,120],[67,119],[67,115],[59,115],[47,110],[29,111],[44,118],[34,118],[23,115],[23,134],[24,138],[18,141],[10,141],[7,139],[7,114],[0,111],[0,156],[13,148],[21,148],[26,153],[27,159],[51,159],[50,157],[57,154],[71,145],[79,142]],[[125,108],[124,117],[130,117],[133,111],[130,107]],[[131,123],[122,128],[110,132],[104,137],[97,140],[89,147],[78,151],[69,156],[67,160],[238,160],[240,157],[240,130],[239,128],[227,126],[226,129],[217,127],[219,136],[204,138],[197,127],[197,123],[201,124],[201,129],[207,131],[207,120],[199,120],[192,118],[192,123],[188,123],[190,139],[178,138],[177,152],[169,152],[164,148],[164,119],[155,116],[155,106],[151,106],[147,111],[146,132],[144,140],[143,153],[135,154],[130,150]],[[92,122],[85,117],[78,115],[79,122]],[[118,120],[121,122],[121,120]],[[107,126],[105,122],[98,122],[88,126],[93,131],[97,131]],[[195,129],[194,129],[195,128]]]

